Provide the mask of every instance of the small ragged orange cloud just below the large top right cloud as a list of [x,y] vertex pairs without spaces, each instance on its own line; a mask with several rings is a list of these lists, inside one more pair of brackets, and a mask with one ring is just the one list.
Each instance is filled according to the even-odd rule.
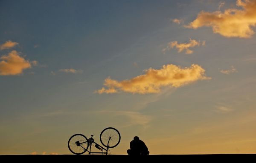
[[163,48],[162,52],[165,53],[166,51],[169,51],[171,48],[176,47],[176,49],[178,50],[178,53],[185,51],[186,50],[186,54],[192,54],[193,51],[190,50],[189,48],[195,47],[195,46],[200,46],[200,45],[205,45],[205,41],[196,41],[195,39],[189,39],[189,43],[180,43],[178,44],[177,41],[172,41],[169,42],[166,48]]

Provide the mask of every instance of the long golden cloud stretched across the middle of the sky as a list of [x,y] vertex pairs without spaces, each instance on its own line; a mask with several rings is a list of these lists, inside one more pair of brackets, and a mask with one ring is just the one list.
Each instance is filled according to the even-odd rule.
[[159,93],[161,87],[181,87],[183,85],[195,82],[197,80],[211,79],[204,75],[205,70],[193,64],[191,67],[181,68],[176,65],[163,65],[159,70],[149,68],[145,70],[144,75],[137,76],[132,79],[118,82],[108,77],[105,79],[104,85],[95,93]]

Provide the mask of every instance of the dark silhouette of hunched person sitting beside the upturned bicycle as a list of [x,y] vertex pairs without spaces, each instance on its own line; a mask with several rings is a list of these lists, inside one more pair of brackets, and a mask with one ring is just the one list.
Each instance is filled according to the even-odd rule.
[[148,147],[137,136],[134,136],[134,140],[130,142],[130,149],[127,153],[128,155],[149,155]]

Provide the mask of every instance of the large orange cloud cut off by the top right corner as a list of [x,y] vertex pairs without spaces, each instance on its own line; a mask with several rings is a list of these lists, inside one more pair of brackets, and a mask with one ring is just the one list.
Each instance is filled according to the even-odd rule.
[[213,33],[224,37],[250,38],[255,33],[256,0],[237,0],[236,6],[242,9],[228,8],[224,12],[201,11],[197,18],[185,25],[197,29],[203,26],[212,27]]

